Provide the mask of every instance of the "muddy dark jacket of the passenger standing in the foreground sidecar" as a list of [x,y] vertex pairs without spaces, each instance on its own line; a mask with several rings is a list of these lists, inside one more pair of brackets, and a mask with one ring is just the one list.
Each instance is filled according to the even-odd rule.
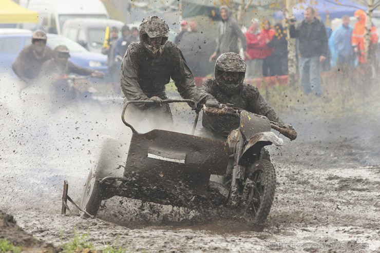
[[[182,98],[198,103],[208,96],[197,91],[191,70],[172,42],[166,42],[158,58],[151,56],[140,42],[130,44],[121,71],[121,88],[128,100],[148,100],[152,96],[167,99],[165,85],[170,82],[170,77]],[[150,106],[138,107],[148,109]]]

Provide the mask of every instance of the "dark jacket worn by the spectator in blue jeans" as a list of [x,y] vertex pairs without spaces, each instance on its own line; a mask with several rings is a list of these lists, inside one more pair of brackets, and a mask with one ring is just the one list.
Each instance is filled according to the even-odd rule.
[[[311,29],[308,32],[308,29]],[[289,27],[290,37],[298,37],[298,47],[301,57],[327,56],[328,41],[325,25],[315,19],[313,23],[308,25],[306,21],[296,28],[294,25]],[[309,34],[308,34],[309,33]]]

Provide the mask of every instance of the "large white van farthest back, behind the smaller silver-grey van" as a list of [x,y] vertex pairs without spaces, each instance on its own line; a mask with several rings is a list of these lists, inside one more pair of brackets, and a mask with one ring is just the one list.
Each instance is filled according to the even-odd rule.
[[20,5],[39,13],[40,22],[24,24],[24,29],[42,29],[49,33],[62,33],[70,18],[109,18],[101,0],[20,0]]

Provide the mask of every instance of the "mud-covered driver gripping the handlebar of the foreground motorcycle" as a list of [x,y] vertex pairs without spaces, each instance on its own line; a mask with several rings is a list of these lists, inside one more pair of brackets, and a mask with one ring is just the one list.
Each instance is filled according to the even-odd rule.
[[[294,130],[291,125],[284,123],[275,111],[265,102],[259,90],[244,83],[245,63],[237,53],[223,53],[215,63],[215,78],[204,82],[200,90],[212,95],[221,104],[232,104],[259,115],[266,116],[270,121],[278,123],[283,128]],[[210,100],[212,101],[212,100]],[[205,106],[217,107],[213,103],[205,103]],[[227,135],[239,127],[240,120],[233,116],[209,116],[203,113],[203,131],[214,138],[225,140]],[[270,159],[269,152],[262,149],[262,157]],[[244,168],[234,164],[231,185],[231,204],[236,205],[239,198]]]

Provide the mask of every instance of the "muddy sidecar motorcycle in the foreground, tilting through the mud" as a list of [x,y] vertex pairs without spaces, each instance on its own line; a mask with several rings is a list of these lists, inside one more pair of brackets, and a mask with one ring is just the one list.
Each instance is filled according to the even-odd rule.
[[[194,103],[164,101],[174,102]],[[126,162],[122,160],[125,150],[118,140],[103,139],[100,159],[84,186],[80,204],[84,217],[96,216],[104,201],[113,196],[191,209],[221,205],[229,208],[232,168],[238,164],[246,169],[239,204],[231,209],[249,220],[267,219],[276,189],[276,172],[270,160],[261,155],[261,149],[272,144],[283,145],[271,128],[290,139],[296,138],[295,131],[281,128],[264,116],[225,106],[223,109],[203,107],[203,113],[208,115],[240,118],[240,127],[225,142],[158,129],[139,133],[124,115],[132,103],[151,101],[124,104],[122,121],[132,130]],[[211,175],[222,180],[212,181]]]

